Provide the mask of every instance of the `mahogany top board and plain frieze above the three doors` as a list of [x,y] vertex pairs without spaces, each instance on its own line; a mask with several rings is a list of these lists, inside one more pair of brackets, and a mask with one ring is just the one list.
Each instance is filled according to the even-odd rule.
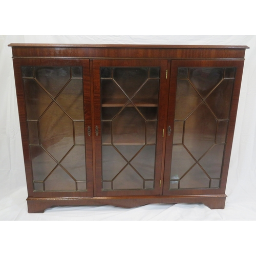
[[243,46],[9,45],[13,58],[244,58]]

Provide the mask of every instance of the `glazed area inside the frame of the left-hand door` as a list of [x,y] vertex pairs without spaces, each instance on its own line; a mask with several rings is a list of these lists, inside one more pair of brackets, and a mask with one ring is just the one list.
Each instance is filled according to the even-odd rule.
[[34,189],[86,190],[82,67],[22,70]]

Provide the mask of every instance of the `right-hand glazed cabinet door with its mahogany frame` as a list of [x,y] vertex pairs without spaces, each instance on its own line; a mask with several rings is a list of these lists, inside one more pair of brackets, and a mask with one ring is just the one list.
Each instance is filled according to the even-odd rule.
[[224,194],[242,69],[243,61],[172,61],[164,195]]

